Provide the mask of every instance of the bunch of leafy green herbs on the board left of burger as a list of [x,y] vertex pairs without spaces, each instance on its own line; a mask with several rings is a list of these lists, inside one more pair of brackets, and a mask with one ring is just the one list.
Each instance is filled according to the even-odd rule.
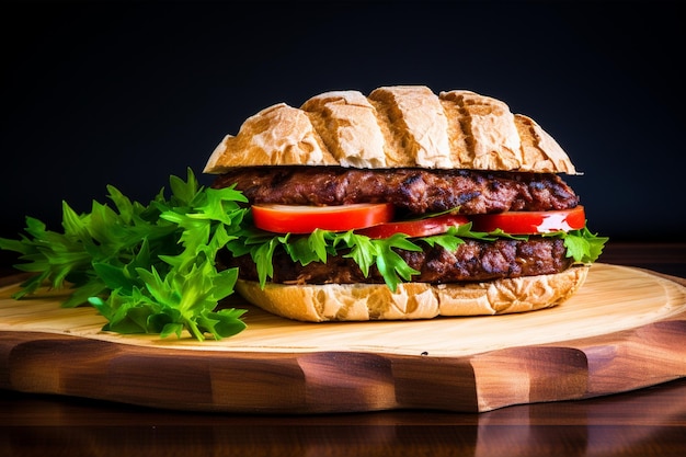
[[108,321],[103,330],[162,338],[187,330],[197,340],[242,331],[244,310],[216,310],[233,293],[238,271],[218,271],[215,260],[236,238],[245,197],[201,186],[190,169],[186,181],[171,176],[170,186],[169,198],[162,188],[147,206],[114,186],[114,208],[93,202],[79,215],[62,203],[62,232],[27,217],[27,236],[0,238],[0,249],[21,254],[18,270],[36,273],[14,298],[49,283],[72,290],[62,307],[95,307]]

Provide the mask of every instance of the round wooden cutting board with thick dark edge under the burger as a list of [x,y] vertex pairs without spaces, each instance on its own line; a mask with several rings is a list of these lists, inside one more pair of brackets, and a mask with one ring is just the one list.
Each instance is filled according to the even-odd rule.
[[0,288],[0,388],[163,409],[481,412],[686,377],[686,287],[594,264],[563,305],[521,315],[304,323],[251,307],[222,341],[121,335],[91,307]]

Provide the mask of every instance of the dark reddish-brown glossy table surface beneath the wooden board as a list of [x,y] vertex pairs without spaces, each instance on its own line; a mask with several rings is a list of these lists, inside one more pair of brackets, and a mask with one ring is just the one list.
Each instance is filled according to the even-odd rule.
[[[610,243],[601,260],[652,270],[686,285],[686,243]],[[684,456],[686,378],[485,413],[214,414],[0,390],[0,455],[144,454]]]

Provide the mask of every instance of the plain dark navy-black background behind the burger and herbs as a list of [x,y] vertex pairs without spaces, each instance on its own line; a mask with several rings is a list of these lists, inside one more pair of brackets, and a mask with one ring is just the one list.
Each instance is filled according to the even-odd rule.
[[[202,175],[258,111],[329,90],[469,89],[529,115],[613,240],[681,240],[685,21],[677,2],[10,1],[0,7],[0,237],[61,201],[148,203]],[[0,260],[9,262],[7,253]]]

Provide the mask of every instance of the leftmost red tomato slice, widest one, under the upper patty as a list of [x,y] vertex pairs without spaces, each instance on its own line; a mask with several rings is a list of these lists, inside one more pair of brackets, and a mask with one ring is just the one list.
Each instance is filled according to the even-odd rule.
[[347,231],[392,220],[393,205],[253,205],[252,216],[255,227],[276,233],[311,233],[315,229]]

